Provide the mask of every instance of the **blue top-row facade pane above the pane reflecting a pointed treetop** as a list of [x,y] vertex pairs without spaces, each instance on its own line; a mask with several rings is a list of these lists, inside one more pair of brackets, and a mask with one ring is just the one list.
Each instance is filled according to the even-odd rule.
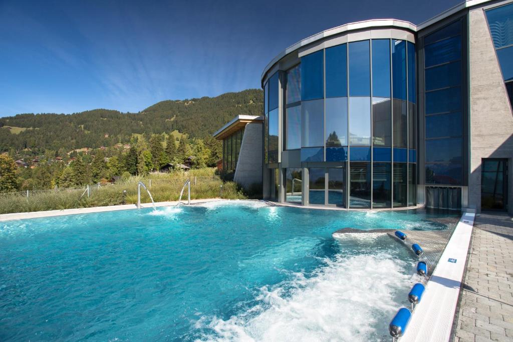
[[326,49],[326,97],[347,96],[347,45]]

